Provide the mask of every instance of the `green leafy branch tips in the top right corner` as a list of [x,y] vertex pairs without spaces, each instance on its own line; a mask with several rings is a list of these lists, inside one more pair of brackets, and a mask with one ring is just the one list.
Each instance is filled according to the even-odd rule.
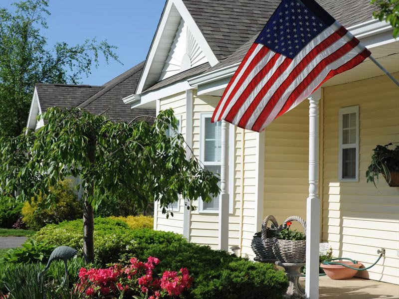
[[399,35],[399,0],[372,0],[370,4],[376,4],[378,10],[373,12],[375,18],[386,20],[394,28],[393,36]]

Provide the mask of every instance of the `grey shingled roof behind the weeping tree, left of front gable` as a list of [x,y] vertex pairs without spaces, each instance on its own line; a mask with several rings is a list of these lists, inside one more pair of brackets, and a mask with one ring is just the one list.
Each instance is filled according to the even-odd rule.
[[131,109],[122,98],[134,94],[144,62],[127,70],[103,86],[36,84],[42,111],[49,107],[79,107],[93,114],[105,114],[110,118],[131,120],[140,115],[155,116],[153,109]]

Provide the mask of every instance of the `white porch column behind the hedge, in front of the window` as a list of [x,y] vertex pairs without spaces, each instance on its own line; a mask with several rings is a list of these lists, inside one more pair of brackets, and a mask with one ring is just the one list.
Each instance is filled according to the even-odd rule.
[[220,157],[220,196],[219,196],[219,231],[218,249],[228,251],[228,131],[227,123],[221,122],[221,157]]

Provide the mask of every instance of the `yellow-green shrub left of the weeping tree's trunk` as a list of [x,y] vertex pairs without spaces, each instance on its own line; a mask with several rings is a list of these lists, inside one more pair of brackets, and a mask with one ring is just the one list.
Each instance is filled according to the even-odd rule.
[[69,187],[69,181],[65,180],[58,186],[51,188],[50,193],[55,202],[46,207],[46,197],[37,196],[29,204],[22,207],[23,222],[30,229],[38,230],[49,223],[59,223],[64,220],[74,220],[81,217],[82,202]]

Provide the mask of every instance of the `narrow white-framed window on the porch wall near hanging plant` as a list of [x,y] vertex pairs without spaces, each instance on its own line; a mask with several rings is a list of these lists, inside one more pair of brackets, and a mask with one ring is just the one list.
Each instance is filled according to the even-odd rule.
[[359,181],[359,106],[339,112],[339,179]]

